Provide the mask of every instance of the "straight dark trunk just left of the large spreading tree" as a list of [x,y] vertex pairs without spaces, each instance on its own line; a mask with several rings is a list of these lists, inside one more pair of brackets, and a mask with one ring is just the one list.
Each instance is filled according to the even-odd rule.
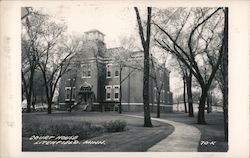
[[187,76],[187,95],[188,95],[188,116],[194,117],[193,95],[192,95],[192,72]]

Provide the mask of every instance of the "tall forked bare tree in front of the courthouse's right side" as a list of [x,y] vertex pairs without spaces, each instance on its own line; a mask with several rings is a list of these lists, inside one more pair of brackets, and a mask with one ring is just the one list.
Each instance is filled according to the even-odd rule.
[[[152,8],[148,7],[148,15],[147,15],[147,30],[146,36],[144,36],[144,31],[142,27],[140,13],[137,7],[134,7],[139,35],[141,38],[142,47],[144,50],[144,77],[143,77],[143,104],[144,104],[144,126],[145,127],[152,127],[151,116],[150,116],[150,107],[149,107],[149,46],[150,46],[150,32],[151,32],[151,11]],[[146,39],[145,39],[146,37]]]

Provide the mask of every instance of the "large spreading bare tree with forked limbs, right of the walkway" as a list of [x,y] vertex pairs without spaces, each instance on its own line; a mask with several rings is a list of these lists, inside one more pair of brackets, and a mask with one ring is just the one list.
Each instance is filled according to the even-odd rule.
[[[202,94],[199,102],[199,124],[206,124],[204,115],[206,98],[223,54],[225,37],[221,36],[223,32],[221,11],[222,8],[181,8],[178,16],[180,22],[172,18],[173,15],[176,16],[176,12],[168,16],[170,21],[172,19],[173,25],[170,23],[167,26],[160,26],[154,22],[154,26],[164,35],[161,39],[157,39],[157,43],[185,64],[200,84]],[[206,67],[210,67],[210,73],[204,78],[203,69]]]

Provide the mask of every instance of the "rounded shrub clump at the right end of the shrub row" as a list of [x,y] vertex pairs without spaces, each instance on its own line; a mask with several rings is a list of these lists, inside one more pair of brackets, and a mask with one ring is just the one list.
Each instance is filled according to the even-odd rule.
[[127,122],[124,120],[115,120],[103,123],[103,127],[107,132],[122,132],[125,130],[126,126]]

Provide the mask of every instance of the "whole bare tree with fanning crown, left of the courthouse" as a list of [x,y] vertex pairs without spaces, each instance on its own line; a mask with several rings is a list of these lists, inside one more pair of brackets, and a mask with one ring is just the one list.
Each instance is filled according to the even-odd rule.
[[[78,41],[69,41],[69,38],[63,35],[66,26],[54,22],[49,15],[36,11],[26,19],[23,41],[29,46],[26,52],[32,52],[32,55],[29,55],[32,57],[30,61],[35,63],[34,65],[42,72],[48,113],[51,113],[52,100],[58,82],[67,71]],[[25,47],[25,43],[22,46]]]

